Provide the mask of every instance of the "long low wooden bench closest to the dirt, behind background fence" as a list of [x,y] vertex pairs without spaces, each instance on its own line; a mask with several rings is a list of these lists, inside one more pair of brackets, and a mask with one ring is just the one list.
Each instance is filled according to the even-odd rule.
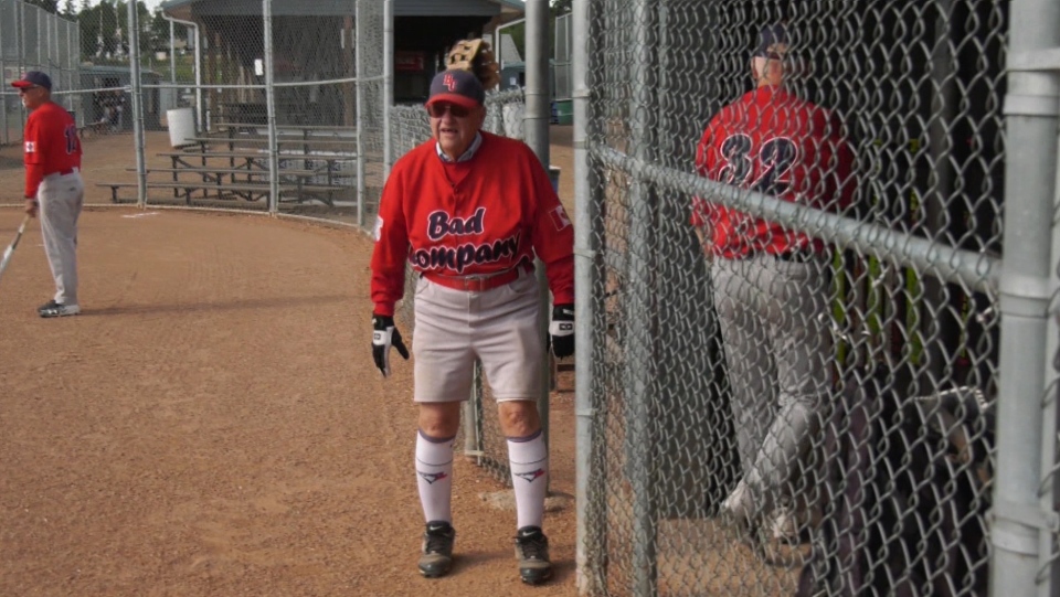
[[[120,189],[139,189],[139,183],[136,182],[98,182],[97,186],[104,186],[110,189],[110,201],[113,203],[121,203],[121,200],[118,196],[118,191]],[[271,191],[271,186],[267,182],[263,183],[242,183],[242,184],[231,184],[231,183],[215,183],[215,182],[199,182],[199,181],[168,181],[168,182],[148,182],[148,189],[170,189],[173,191],[174,199],[183,199],[184,204],[191,205],[192,200],[195,199],[192,196],[197,192],[201,192],[201,199],[218,199],[218,200],[231,200],[231,199],[244,199],[246,201],[257,201],[262,198],[267,198]],[[279,194],[280,201],[285,200],[285,196],[288,198],[288,201],[296,201],[301,203],[306,201],[304,195],[311,195],[312,199],[324,202],[328,206],[335,206],[333,195],[339,192],[350,192],[353,190],[352,186],[348,185],[328,185],[328,184],[290,184],[284,183],[279,184]],[[290,198],[292,193],[294,198]]]

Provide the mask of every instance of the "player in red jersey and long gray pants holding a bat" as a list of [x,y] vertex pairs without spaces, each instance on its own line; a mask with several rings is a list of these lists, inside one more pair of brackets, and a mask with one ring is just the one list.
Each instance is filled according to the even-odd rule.
[[55,278],[55,297],[38,309],[41,317],[75,316],[77,302],[77,218],[85,199],[81,179],[81,139],[65,108],[52,102],[52,79],[30,71],[13,83],[30,110],[25,121],[25,213],[41,213],[44,253]]

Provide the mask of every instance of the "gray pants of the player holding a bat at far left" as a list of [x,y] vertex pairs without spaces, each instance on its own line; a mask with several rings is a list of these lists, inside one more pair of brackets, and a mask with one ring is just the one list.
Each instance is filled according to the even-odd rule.
[[85,202],[81,173],[44,177],[36,200],[44,254],[55,278],[55,302],[77,305],[77,218]]

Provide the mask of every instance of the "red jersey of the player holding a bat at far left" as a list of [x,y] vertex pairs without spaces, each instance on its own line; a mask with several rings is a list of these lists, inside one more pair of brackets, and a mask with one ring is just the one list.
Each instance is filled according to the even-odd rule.
[[54,102],[45,102],[25,121],[25,196],[36,196],[44,177],[81,168],[81,139],[74,118]]

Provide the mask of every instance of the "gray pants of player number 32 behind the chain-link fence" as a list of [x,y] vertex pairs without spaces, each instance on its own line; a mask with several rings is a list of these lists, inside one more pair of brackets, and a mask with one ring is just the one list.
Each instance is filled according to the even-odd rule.
[[820,425],[831,362],[819,317],[827,313],[826,268],[824,257],[713,262],[743,480],[760,512],[791,497],[799,455]]

